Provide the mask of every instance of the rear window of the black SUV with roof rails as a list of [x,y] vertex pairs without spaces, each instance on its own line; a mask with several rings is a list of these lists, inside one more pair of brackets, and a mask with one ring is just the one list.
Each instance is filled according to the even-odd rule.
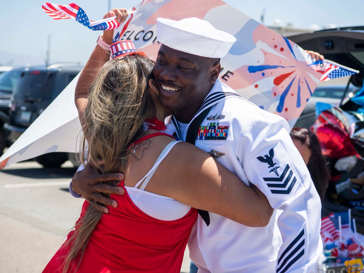
[[50,98],[54,75],[50,71],[22,72],[14,90],[16,97],[47,99]]

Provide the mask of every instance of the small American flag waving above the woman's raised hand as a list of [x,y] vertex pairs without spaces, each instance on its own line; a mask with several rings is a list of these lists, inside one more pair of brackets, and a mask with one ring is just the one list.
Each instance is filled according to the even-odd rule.
[[89,20],[83,9],[74,3],[68,5],[43,3],[42,8],[44,12],[46,12],[49,16],[51,16],[55,20],[74,19],[78,21],[80,24],[83,24],[84,26],[92,30],[115,29],[120,26],[119,21],[114,18],[104,23],[91,26],[90,23],[94,21]]

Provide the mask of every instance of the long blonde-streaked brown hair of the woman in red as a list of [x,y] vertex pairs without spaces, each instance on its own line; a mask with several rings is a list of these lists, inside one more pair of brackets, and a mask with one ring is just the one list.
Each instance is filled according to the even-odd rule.
[[[80,159],[86,155],[87,164],[99,173],[124,173],[127,166],[127,147],[134,141],[144,122],[155,112],[147,91],[147,80],[153,63],[141,54],[126,55],[104,64],[91,85],[84,110]],[[104,164],[100,165],[99,160]],[[82,162],[83,163],[83,162]],[[105,182],[116,186],[120,181]],[[105,194],[107,197],[110,194]],[[68,272],[75,258],[82,259],[87,242],[103,214],[89,204],[86,214],[75,224],[75,231],[66,241],[69,248],[64,257],[63,273]],[[76,268],[78,268],[78,265]]]

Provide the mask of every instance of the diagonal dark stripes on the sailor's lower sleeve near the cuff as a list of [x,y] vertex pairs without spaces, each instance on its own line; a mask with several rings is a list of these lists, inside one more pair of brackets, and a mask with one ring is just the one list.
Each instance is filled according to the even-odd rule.
[[[303,225],[297,234],[292,238],[286,248],[278,254],[277,270],[276,273],[285,273],[289,270],[297,261],[305,256],[306,253],[306,233],[305,225]],[[289,272],[289,271],[288,271]]]

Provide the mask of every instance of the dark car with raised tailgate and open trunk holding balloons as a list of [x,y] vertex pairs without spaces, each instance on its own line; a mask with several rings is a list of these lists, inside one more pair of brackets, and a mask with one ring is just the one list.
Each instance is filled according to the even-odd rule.
[[[350,82],[357,87],[363,86],[364,76],[364,26],[363,27],[347,27],[336,29],[325,29],[303,33],[288,37],[297,43],[300,47],[319,52],[324,55],[325,59],[332,60],[343,66],[347,66],[359,70],[359,74],[352,75]],[[357,110],[350,101],[342,107],[345,111]],[[356,107],[356,108],[355,108]],[[361,171],[364,166],[361,166]],[[335,175],[333,164],[329,166],[332,175]],[[322,216],[327,216],[333,211],[347,211],[351,209],[352,218],[356,218],[357,230],[364,233],[364,210],[355,209],[340,199],[336,199],[336,190],[333,182],[330,182],[325,199],[323,201]],[[363,208],[364,209],[364,208]]]

